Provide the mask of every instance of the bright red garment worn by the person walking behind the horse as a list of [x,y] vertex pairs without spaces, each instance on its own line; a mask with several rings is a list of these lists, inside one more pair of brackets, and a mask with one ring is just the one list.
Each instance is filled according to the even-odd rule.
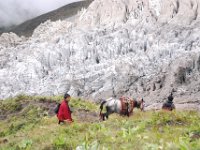
[[60,104],[57,117],[59,121],[64,121],[64,120],[72,121],[71,112],[67,101],[63,100],[62,103]]

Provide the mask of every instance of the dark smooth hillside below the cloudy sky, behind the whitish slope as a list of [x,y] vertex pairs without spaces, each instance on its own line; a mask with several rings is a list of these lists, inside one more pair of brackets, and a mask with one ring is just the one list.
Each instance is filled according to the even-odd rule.
[[92,1],[93,0],[74,2],[49,13],[38,16],[34,19],[28,20],[20,25],[12,26],[8,29],[0,28],[0,34],[3,32],[13,32],[18,36],[31,36],[35,28],[37,28],[37,26],[39,26],[41,23],[44,23],[47,20],[56,21],[59,19],[71,19],[82,8],[87,8]]

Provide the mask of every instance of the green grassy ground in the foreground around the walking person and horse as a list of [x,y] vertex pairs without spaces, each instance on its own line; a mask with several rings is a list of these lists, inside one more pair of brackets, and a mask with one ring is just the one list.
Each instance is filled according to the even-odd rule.
[[[22,107],[27,101],[61,99],[18,96],[2,101],[0,109],[19,113],[0,121],[0,149],[200,150],[200,114],[195,111],[134,110],[129,118],[113,114],[95,123],[80,122],[72,115],[74,123],[58,125],[56,116],[49,116],[43,108]],[[81,99],[72,99],[70,105],[98,111],[97,105]]]

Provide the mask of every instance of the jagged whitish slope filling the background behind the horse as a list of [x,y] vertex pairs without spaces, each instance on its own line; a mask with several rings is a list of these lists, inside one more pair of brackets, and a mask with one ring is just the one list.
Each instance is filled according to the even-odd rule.
[[0,98],[19,93],[200,103],[200,0],[95,0],[74,21],[0,37]]

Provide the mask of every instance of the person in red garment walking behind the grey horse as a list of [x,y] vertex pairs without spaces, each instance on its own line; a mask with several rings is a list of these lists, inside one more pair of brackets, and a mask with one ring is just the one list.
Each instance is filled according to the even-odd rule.
[[64,100],[61,102],[60,108],[59,108],[58,114],[57,114],[58,121],[59,121],[58,124],[60,124],[61,122],[63,122],[63,123],[73,122],[73,119],[71,117],[71,110],[68,105],[70,99],[71,99],[71,96],[69,94],[65,93]]

